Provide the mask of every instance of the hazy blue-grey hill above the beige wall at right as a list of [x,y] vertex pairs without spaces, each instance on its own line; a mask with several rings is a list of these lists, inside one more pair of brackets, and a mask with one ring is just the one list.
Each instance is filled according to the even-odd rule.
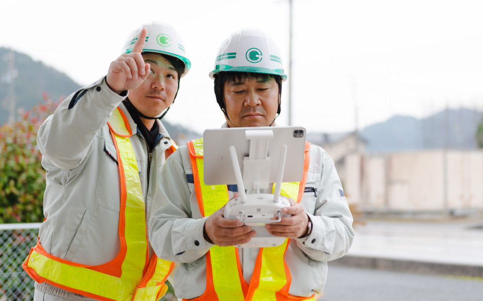
[[475,133],[483,113],[448,109],[423,119],[396,115],[360,131],[369,152],[427,148],[476,148]]

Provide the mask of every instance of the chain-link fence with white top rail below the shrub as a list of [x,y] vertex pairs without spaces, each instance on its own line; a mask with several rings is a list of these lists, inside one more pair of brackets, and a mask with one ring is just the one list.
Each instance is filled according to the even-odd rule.
[[0,301],[34,298],[34,280],[22,268],[37,242],[40,223],[0,224]]

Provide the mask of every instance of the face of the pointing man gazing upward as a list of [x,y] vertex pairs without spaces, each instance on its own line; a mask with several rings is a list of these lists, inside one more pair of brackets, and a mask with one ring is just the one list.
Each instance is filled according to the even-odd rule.
[[139,87],[129,91],[129,100],[139,112],[155,117],[173,103],[178,89],[178,72],[160,54],[145,53],[142,57],[151,65],[151,73]]

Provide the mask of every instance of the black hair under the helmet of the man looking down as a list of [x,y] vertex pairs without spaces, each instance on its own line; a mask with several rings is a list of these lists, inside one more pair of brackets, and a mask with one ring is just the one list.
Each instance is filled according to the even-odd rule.
[[225,114],[226,118],[228,120],[230,119],[228,115],[226,114],[225,108],[225,101],[223,98],[223,87],[226,82],[236,82],[236,81],[246,81],[246,80],[251,80],[251,79],[256,79],[257,81],[261,82],[268,82],[272,78],[277,82],[278,84],[278,109],[277,109],[277,114],[280,114],[280,102],[281,102],[281,95],[282,95],[282,77],[279,75],[275,74],[266,74],[266,73],[254,73],[254,72],[236,72],[236,71],[231,71],[231,72],[219,72],[214,75],[215,81],[214,81],[214,90],[215,90],[215,96],[216,96],[216,102],[220,106],[220,109],[223,111]]

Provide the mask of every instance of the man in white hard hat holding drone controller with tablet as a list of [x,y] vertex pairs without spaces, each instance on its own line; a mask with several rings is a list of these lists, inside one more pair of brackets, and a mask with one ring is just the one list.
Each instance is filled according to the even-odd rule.
[[[264,32],[234,32],[221,44],[210,77],[226,120],[223,127],[274,126],[287,76],[276,44]],[[181,146],[159,174],[149,219],[157,256],[181,262],[172,282],[176,295],[314,300],[326,283],[327,261],[346,254],[354,237],[352,215],[327,153],[306,143],[302,180],[287,183],[282,193],[291,198],[291,206],[282,209],[289,217],[265,226],[286,238],[274,247],[234,247],[257,233],[223,217],[223,206],[237,187],[205,185],[202,167],[202,139]]]

